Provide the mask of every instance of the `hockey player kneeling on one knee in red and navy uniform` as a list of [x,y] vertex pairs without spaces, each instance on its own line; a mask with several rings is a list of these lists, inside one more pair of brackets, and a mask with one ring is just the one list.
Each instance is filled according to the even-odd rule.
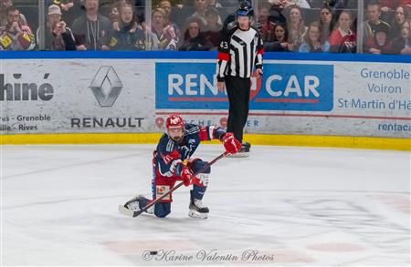
[[[184,124],[183,118],[177,114],[166,119],[165,127],[166,132],[153,152],[153,200],[171,190],[177,180],[183,180],[184,186],[193,185],[193,189],[190,190],[188,216],[206,219],[209,210],[203,205],[202,200],[208,185],[210,167],[205,168],[206,161],[191,156],[204,140],[221,140],[229,154],[236,154],[241,149],[241,143],[234,138],[233,133],[226,133],[223,128]],[[201,173],[194,176],[194,173],[201,169]],[[132,211],[141,211],[153,200],[139,195],[125,203],[124,207]],[[172,194],[146,212],[163,218],[170,213],[171,202]]]

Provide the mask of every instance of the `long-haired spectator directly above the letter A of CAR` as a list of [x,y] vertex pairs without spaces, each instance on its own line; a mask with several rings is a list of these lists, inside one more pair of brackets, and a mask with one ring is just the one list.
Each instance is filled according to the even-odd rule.
[[287,28],[289,30],[288,42],[294,45],[298,50],[300,44],[304,41],[304,36],[307,33],[308,27],[304,25],[300,6],[291,5],[287,15]]

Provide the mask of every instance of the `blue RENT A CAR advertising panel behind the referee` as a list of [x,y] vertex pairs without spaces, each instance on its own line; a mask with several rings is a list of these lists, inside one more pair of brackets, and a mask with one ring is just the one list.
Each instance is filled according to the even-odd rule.
[[[332,65],[265,64],[251,78],[249,108],[255,110],[331,111]],[[155,108],[227,109],[226,92],[216,87],[215,63],[157,63]]]

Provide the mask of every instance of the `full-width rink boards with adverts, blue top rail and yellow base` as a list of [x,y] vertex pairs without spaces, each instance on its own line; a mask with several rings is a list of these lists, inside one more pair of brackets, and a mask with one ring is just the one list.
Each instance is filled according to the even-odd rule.
[[[155,143],[175,111],[187,122],[227,126],[215,53],[1,56],[3,144]],[[263,78],[252,78],[252,143],[410,149],[410,56],[264,59]]]

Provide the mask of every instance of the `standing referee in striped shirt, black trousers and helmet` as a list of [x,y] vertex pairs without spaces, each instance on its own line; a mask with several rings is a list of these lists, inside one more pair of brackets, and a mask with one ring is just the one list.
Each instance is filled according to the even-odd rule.
[[237,10],[237,26],[228,29],[218,47],[217,87],[227,88],[229,101],[227,132],[233,132],[242,142],[240,154],[248,156],[250,144],[243,141],[243,128],[248,119],[250,77],[254,69],[262,75],[263,44],[258,32],[251,27],[253,8],[243,2]]

